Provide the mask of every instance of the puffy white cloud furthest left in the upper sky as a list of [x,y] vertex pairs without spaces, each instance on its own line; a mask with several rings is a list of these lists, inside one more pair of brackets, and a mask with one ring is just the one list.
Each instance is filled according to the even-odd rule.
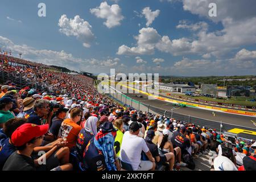
[[84,19],[76,15],[74,19],[68,19],[67,15],[61,15],[59,19],[59,31],[67,36],[76,36],[88,48],[94,39],[92,26]]

